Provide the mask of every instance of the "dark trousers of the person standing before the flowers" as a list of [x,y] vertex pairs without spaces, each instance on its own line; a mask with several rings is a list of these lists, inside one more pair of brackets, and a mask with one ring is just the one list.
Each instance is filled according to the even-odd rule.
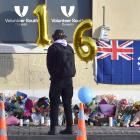
[[66,127],[71,127],[73,123],[71,108],[73,96],[72,78],[51,80],[49,91],[51,127],[58,125],[58,107],[60,104],[60,96],[62,97],[62,102],[64,106]]

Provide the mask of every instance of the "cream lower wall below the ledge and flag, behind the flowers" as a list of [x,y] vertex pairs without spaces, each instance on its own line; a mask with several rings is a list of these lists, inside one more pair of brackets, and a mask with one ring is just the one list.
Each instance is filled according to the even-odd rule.
[[[78,101],[80,87],[93,89],[93,96],[115,94],[119,98],[140,99],[140,85],[96,84],[93,76],[93,62],[85,63],[77,55],[77,73],[74,81],[74,98]],[[46,54],[0,54],[0,91],[13,94],[17,90],[30,96],[48,96],[49,74],[46,68]]]

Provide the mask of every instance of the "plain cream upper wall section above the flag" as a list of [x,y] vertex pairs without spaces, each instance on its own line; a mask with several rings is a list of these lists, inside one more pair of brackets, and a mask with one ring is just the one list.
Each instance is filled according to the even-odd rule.
[[140,0],[93,0],[93,32],[95,37],[103,25],[103,6],[105,6],[105,25],[110,27],[110,39],[140,39]]

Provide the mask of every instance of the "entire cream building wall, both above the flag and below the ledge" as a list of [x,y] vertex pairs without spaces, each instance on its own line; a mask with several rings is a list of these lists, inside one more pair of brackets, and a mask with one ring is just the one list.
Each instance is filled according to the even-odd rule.
[[[139,5],[139,0],[93,0],[93,29],[102,25],[102,6],[105,6],[105,24],[111,29],[110,39],[139,39]],[[119,98],[140,99],[140,85],[97,84],[93,62],[86,64],[77,55],[75,58],[74,100],[78,101],[77,92],[82,86],[91,87],[94,95],[115,94]],[[32,96],[48,96],[49,84],[46,54],[0,54],[2,92],[13,94],[20,90]]]

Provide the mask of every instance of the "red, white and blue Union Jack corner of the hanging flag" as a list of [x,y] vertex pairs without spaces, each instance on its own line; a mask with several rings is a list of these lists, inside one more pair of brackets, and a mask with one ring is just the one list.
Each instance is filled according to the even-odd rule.
[[111,60],[119,60],[119,57],[122,57],[126,60],[133,60],[133,57],[129,54],[133,54],[134,50],[132,47],[129,47],[133,41],[125,41],[122,44],[118,44],[118,40],[111,40],[110,44],[104,41],[97,41],[98,53],[101,53],[97,56],[97,59],[104,59],[108,56],[111,56]]

